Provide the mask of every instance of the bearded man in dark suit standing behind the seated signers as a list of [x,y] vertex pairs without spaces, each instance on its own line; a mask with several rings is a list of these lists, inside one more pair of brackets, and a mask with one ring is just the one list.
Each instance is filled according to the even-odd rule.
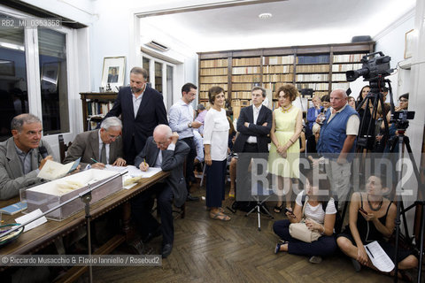
[[130,87],[120,88],[111,111],[105,118],[121,115],[124,157],[134,164],[146,139],[159,124],[168,125],[163,97],[157,90],[146,85],[148,73],[140,67],[130,71]]

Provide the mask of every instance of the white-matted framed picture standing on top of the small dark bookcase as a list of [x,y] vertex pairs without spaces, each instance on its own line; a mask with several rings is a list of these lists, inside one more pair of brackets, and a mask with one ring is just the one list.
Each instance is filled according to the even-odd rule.
[[126,74],[126,57],[104,57],[104,68],[102,71],[101,86],[110,91],[118,91],[124,85]]

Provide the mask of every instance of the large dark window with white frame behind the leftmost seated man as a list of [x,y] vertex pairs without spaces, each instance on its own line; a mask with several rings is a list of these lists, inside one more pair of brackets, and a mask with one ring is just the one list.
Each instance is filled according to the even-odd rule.
[[[2,19],[30,17],[0,7]],[[57,137],[47,135],[73,135],[70,113],[75,112],[75,106],[70,105],[68,96],[75,89],[68,84],[73,81],[68,70],[72,70],[69,62],[73,62],[74,54],[67,48],[73,44],[68,42],[73,33],[66,27],[0,27],[0,141],[12,136],[12,118],[27,112],[42,119],[48,142],[56,142]]]

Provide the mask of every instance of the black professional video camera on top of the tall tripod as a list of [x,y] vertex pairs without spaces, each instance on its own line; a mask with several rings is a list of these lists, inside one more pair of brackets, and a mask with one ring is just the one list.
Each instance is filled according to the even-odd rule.
[[[379,54],[380,57],[373,57]],[[371,57],[367,59],[368,57]],[[390,56],[384,56],[383,52],[370,53],[361,58],[363,64],[361,69],[357,71],[347,71],[345,74],[348,81],[354,81],[360,76],[365,80],[376,80],[390,75],[393,69],[390,68]]]

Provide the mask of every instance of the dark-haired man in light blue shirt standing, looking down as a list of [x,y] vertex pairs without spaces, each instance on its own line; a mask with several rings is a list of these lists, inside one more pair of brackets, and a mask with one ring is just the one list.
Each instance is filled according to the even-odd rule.
[[[173,132],[177,132],[177,134],[179,134],[179,140],[186,142],[190,148],[188,157],[186,158],[186,186],[188,187],[188,193],[190,183],[195,181],[193,162],[195,157],[197,157],[197,149],[193,141],[193,129],[202,126],[201,122],[194,121],[195,111],[191,103],[196,97],[197,86],[188,82],[182,87],[182,99],[174,103],[168,111],[168,122],[171,129]],[[193,197],[189,193],[188,200],[196,201],[198,198]]]

